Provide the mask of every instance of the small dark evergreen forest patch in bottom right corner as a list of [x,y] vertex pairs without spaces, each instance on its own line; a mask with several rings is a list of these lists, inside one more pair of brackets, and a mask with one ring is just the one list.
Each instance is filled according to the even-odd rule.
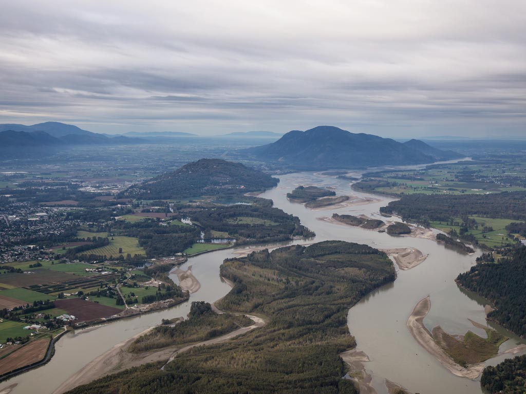
[[480,385],[491,394],[523,394],[526,392],[526,355],[486,367]]

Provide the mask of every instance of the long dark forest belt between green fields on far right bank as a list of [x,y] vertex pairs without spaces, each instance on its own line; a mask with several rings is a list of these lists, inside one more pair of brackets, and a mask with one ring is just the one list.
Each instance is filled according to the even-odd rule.
[[[448,221],[452,217],[480,215],[526,220],[526,192],[493,194],[433,195],[404,194],[400,200],[382,206],[380,213],[397,213],[404,220]],[[432,207],[432,209],[430,209]]]

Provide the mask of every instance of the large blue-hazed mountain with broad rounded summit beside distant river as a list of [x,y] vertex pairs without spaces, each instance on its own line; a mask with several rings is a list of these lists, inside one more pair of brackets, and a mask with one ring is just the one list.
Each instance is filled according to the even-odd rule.
[[[421,164],[451,158],[451,152],[431,148],[422,141],[416,145],[333,126],[318,126],[307,131],[290,131],[274,143],[241,153],[296,170]],[[424,149],[432,154],[424,153]]]

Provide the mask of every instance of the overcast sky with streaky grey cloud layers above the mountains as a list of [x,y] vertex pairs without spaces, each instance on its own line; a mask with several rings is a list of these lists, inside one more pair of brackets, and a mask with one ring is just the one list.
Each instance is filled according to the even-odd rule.
[[524,0],[3,2],[0,122],[521,136],[524,26]]

